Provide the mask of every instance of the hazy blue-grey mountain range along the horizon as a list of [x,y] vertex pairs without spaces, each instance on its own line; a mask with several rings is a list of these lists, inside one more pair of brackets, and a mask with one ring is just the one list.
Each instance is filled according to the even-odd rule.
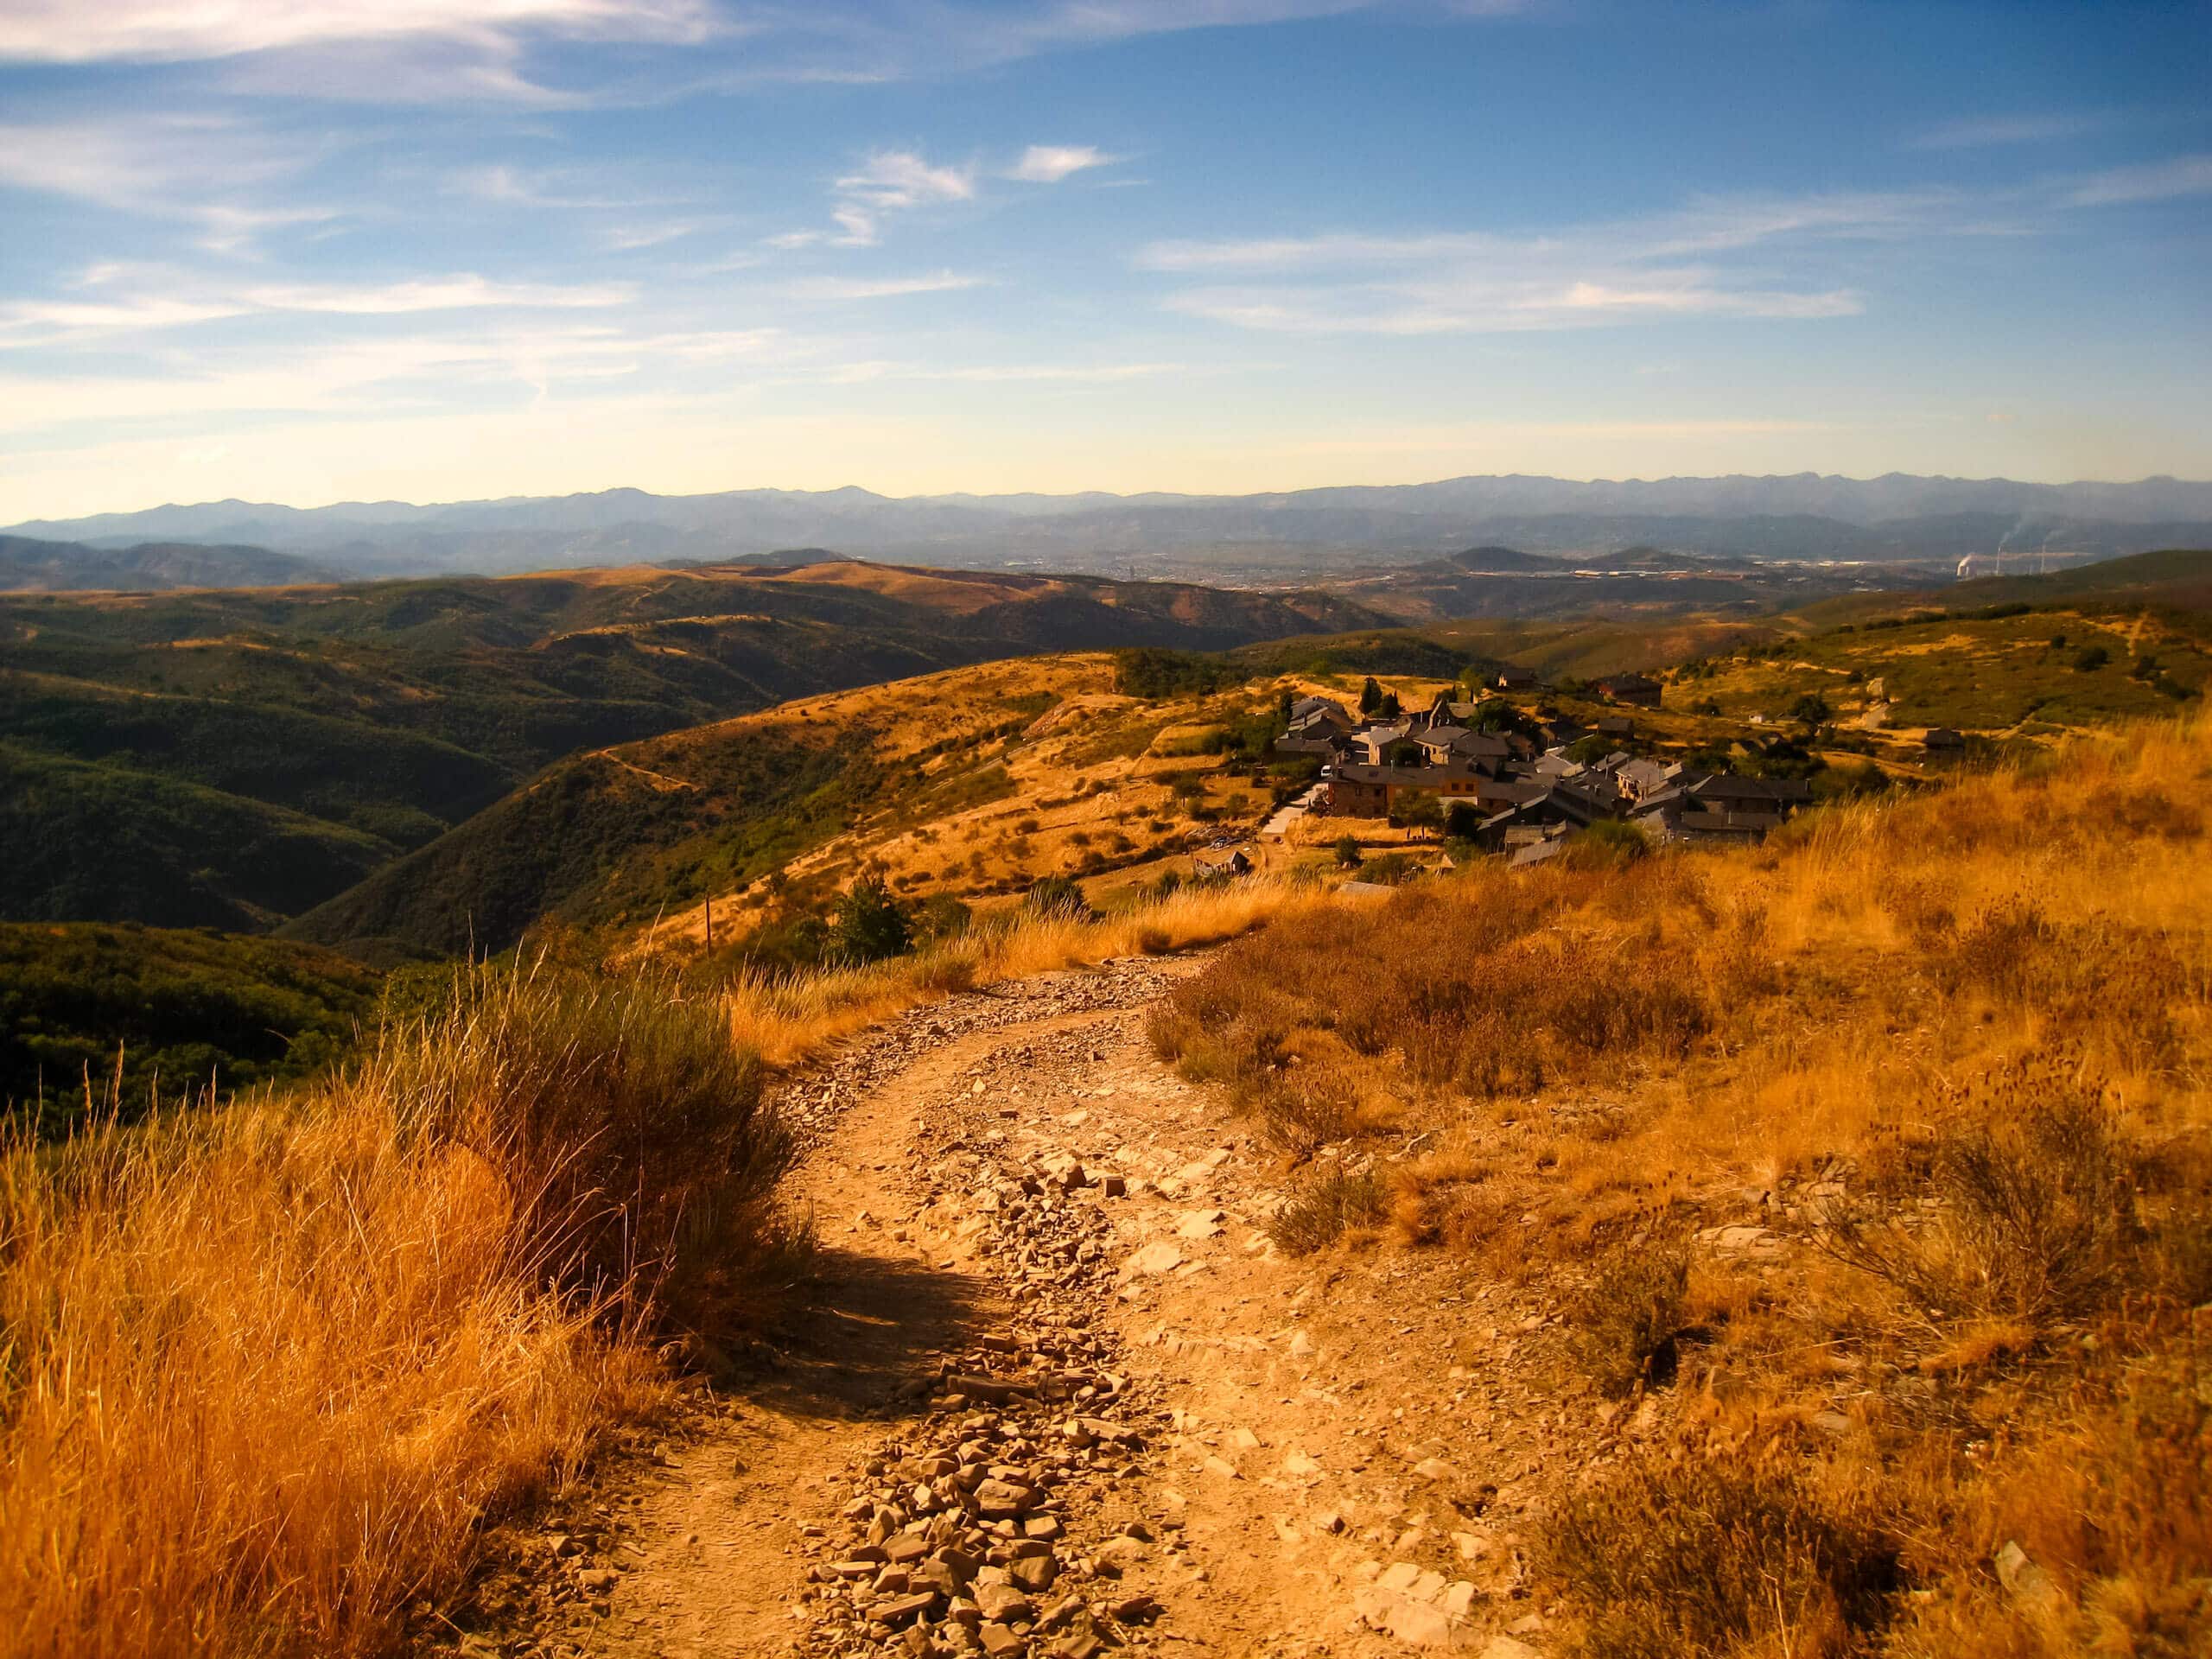
[[356,575],[732,560],[834,546],[922,564],[1241,577],[1440,555],[1469,544],[1613,553],[1637,544],[1756,560],[2117,557],[2212,542],[2212,482],[2022,484],[2004,478],[1451,478],[1267,495],[911,495],[743,489],[717,495],[507,498],[416,507],[206,502],[40,520],[18,535],[252,544]]

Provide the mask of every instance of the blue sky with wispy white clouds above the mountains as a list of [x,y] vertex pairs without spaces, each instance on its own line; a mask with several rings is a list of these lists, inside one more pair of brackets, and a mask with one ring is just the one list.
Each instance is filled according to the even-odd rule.
[[0,0],[0,522],[2212,478],[2212,4]]

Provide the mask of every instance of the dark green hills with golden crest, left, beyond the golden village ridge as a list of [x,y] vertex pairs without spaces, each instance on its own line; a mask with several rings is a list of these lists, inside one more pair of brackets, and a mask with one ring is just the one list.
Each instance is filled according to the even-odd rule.
[[0,920],[268,927],[577,750],[1037,650],[1212,650],[1327,595],[827,560],[0,595]]

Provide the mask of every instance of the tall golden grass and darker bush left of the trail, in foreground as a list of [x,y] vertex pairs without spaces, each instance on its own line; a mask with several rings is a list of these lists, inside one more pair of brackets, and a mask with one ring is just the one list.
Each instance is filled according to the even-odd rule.
[[787,1137],[712,1004],[465,975],[288,1097],[0,1148],[0,1652],[367,1655],[664,1400]]

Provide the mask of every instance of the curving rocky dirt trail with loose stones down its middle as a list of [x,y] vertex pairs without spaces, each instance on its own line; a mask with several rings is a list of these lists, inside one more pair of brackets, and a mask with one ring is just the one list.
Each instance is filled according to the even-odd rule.
[[1146,1042],[1197,967],[953,998],[792,1079],[803,1307],[462,1646],[1540,1652],[1522,1520],[1639,1425],[1537,1387],[1557,1321],[1442,1252],[1276,1252],[1281,1159]]

